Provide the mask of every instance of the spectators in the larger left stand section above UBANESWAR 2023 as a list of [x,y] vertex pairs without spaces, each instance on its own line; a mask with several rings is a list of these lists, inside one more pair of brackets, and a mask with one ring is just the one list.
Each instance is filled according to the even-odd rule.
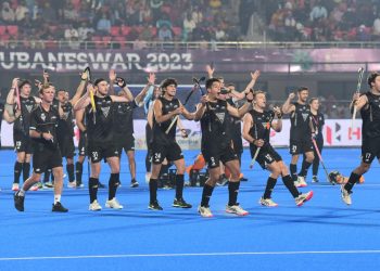
[[[233,0],[8,0],[0,1],[0,40],[24,48],[67,41],[238,40]],[[39,42],[46,40],[48,42]],[[138,41],[141,41],[140,43]],[[20,43],[9,42],[9,47]]]

